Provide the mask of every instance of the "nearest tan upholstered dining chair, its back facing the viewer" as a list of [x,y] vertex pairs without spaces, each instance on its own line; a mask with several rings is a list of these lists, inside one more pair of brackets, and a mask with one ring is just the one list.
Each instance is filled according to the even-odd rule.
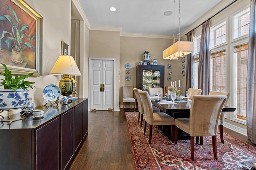
[[214,158],[217,156],[217,129],[226,95],[199,96],[194,95],[190,107],[189,118],[175,119],[175,144],[177,144],[178,129],[190,134],[191,159],[194,160],[194,137],[212,136]]

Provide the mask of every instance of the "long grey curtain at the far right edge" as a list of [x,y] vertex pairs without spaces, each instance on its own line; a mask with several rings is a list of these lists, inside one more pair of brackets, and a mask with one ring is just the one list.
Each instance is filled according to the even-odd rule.
[[256,0],[250,1],[250,29],[246,86],[246,125],[248,139],[256,144]]

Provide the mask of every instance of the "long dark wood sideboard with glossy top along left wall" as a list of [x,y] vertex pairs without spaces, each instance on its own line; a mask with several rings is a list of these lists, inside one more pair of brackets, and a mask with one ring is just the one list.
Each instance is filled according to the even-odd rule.
[[26,115],[0,123],[0,170],[64,170],[72,164],[88,136],[88,99],[36,109],[45,109],[42,119]]

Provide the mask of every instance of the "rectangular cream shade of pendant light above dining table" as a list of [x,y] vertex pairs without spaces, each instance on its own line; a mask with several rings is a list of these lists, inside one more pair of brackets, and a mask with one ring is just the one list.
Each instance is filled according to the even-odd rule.
[[175,60],[193,53],[194,43],[192,41],[177,41],[163,51],[163,59]]

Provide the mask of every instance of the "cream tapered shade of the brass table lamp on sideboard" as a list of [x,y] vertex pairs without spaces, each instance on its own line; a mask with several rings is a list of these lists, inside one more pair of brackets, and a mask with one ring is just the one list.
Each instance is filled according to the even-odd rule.
[[78,66],[76,65],[76,61],[72,56],[69,55],[60,55],[50,74],[53,75],[62,75],[69,74],[73,76],[81,76],[81,72],[79,71]]

